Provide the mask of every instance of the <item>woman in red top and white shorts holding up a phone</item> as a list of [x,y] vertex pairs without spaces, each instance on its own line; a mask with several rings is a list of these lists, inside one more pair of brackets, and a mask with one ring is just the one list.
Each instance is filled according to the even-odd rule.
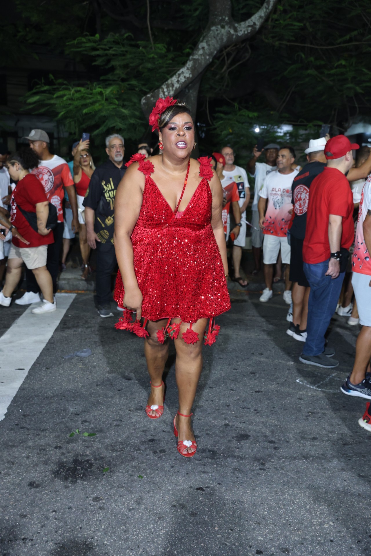
[[86,237],[86,225],[84,210],[82,205],[85,194],[89,187],[90,178],[93,175],[95,166],[88,151],[89,141],[82,141],[77,145],[75,157],[73,157],[73,181],[75,182],[77,207],[78,207],[78,221],[80,222],[80,230],[78,231],[78,240],[80,241],[80,251],[82,257],[82,278],[87,279],[90,273],[89,257],[90,247],[88,246]]

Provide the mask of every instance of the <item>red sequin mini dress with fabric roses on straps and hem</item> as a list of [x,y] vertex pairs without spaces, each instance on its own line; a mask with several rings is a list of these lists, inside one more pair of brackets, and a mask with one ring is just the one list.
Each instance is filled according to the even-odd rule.
[[[135,162],[135,157],[133,161]],[[145,174],[142,207],[131,235],[134,269],[142,292],[142,316],[145,321],[131,322],[130,311],[124,311],[116,328],[131,330],[138,336],[147,336],[147,320],[167,319],[167,326],[157,337],[164,341],[167,335],[176,338],[179,318],[190,324],[182,335],[187,343],[199,340],[192,323],[210,319],[205,344],[212,344],[219,332],[214,317],[230,309],[230,299],[224,268],[211,227],[212,195],[209,181],[212,177],[211,159],[199,158],[201,181],[194,195],[181,213],[174,215],[169,203],[151,177],[154,166],[140,161],[138,170]],[[128,163],[129,164],[129,163]],[[123,303],[123,284],[118,271],[115,300]]]

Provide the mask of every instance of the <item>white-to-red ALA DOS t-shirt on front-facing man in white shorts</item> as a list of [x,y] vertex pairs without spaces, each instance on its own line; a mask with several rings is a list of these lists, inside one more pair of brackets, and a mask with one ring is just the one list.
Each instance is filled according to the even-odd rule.
[[266,176],[259,191],[260,197],[268,199],[263,234],[278,237],[287,235],[291,220],[289,210],[293,208],[291,185],[297,173],[295,170],[289,174],[275,171]]

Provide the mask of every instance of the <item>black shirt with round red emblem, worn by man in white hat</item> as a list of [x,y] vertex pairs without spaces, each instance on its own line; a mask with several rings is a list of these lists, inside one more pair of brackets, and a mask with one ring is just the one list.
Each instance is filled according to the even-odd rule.
[[326,166],[324,162],[313,161],[306,164],[297,176],[294,177],[293,198],[291,202],[294,205],[294,219],[290,227],[290,234],[303,240],[305,237],[306,227],[306,211],[309,202],[309,187],[311,182],[318,174],[323,171]]

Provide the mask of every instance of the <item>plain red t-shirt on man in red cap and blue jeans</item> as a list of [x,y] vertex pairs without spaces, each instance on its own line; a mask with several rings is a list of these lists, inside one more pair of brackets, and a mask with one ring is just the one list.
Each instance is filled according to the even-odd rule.
[[353,195],[349,181],[337,168],[325,167],[311,182],[303,260],[309,264],[330,258],[329,215],[343,217],[341,247],[349,249],[354,239]]

